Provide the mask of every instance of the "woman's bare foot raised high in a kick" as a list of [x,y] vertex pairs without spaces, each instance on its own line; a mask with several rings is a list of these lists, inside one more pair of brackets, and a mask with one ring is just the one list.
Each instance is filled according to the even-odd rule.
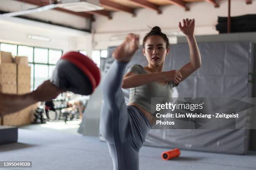
[[133,54],[138,50],[139,36],[136,34],[128,34],[125,41],[116,47],[112,56],[115,60],[120,62],[128,62],[131,60]]

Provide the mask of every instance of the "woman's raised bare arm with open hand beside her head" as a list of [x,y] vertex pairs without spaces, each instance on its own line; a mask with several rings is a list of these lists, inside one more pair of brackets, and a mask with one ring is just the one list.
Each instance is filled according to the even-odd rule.
[[195,30],[195,20],[184,20],[183,27],[179,23],[180,30],[186,35],[187,42],[189,44],[190,62],[184,65],[179,71],[182,73],[182,79],[186,79],[195,70],[201,67],[201,56],[195,40],[194,30]]

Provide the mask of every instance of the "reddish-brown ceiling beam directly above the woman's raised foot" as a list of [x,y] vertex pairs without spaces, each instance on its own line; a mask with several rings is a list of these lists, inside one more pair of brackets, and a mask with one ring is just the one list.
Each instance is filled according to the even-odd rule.
[[130,13],[133,16],[135,16],[133,8],[130,8],[130,7],[127,7],[124,5],[120,5],[120,4],[112,2],[110,0],[100,0],[100,6],[114,10],[114,11],[123,11],[123,12]]

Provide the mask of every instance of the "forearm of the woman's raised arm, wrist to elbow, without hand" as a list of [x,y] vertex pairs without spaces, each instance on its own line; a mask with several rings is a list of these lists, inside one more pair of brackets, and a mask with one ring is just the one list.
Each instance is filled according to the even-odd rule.
[[193,67],[199,68],[201,66],[201,56],[197,46],[197,42],[195,40],[195,36],[186,35],[186,37],[187,37],[187,42],[189,44],[190,62]]

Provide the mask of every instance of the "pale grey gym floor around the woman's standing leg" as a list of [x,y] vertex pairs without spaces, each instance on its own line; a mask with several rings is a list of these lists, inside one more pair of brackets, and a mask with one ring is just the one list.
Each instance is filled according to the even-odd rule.
[[[0,145],[1,161],[32,161],[32,168],[0,170],[113,170],[108,146],[97,137],[73,130],[52,130],[39,125],[19,128],[18,143]],[[169,148],[144,146],[140,170],[256,170],[256,152],[230,155],[181,150],[179,158],[164,161]]]

